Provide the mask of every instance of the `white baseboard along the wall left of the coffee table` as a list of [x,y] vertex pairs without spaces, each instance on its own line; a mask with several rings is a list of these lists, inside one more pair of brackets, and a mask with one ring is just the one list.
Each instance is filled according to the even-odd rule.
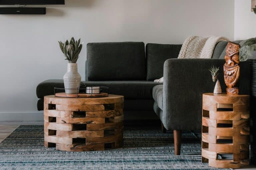
[[39,112],[0,112],[0,122],[40,122],[44,121],[44,113]]

